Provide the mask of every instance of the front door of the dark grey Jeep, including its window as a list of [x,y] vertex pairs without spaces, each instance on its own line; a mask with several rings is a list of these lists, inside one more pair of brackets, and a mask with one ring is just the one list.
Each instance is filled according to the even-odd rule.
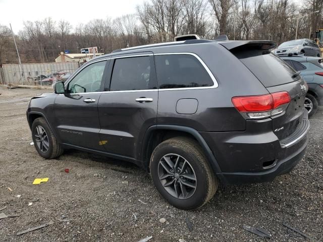
[[[66,95],[58,95],[54,110],[63,143],[94,150],[104,150],[99,140],[100,123],[97,104],[104,86],[104,70],[109,61],[84,67],[66,85]],[[103,77],[104,76],[104,77]]]

